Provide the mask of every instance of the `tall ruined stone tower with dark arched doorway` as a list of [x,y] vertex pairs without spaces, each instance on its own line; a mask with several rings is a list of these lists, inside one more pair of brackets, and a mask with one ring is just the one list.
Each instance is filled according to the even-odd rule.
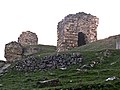
[[78,47],[78,33],[85,34],[85,43],[97,40],[97,27],[99,19],[84,12],[67,15],[58,23],[57,51],[66,51]]

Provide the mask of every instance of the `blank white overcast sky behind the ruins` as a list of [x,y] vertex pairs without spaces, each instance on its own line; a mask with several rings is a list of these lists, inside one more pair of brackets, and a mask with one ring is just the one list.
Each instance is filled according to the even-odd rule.
[[39,44],[57,45],[57,23],[68,14],[97,16],[98,39],[120,34],[119,8],[120,0],[0,0],[0,59],[22,31],[35,32]]

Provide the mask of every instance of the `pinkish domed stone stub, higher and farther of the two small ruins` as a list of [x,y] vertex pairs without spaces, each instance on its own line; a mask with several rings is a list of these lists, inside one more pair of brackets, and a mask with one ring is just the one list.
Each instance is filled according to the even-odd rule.
[[22,34],[18,38],[18,42],[22,46],[27,46],[27,45],[37,45],[38,44],[38,37],[35,33],[26,31],[22,32]]

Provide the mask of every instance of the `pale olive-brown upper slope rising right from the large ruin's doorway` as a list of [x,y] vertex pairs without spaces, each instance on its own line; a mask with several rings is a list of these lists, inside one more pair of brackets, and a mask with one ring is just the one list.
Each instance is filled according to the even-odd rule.
[[89,50],[103,50],[103,49],[115,49],[116,48],[116,41],[120,41],[120,35],[111,36],[106,39],[98,40],[96,42],[92,42],[89,44],[86,44],[81,47],[77,47],[72,49],[74,50],[80,50],[80,51],[89,51]]

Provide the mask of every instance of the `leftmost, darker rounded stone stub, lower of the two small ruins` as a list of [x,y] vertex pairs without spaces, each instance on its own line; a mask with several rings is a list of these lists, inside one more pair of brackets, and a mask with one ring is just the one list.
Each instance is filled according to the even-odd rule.
[[10,42],[5,45],[5,58],[7,61],[15,61],[22,59],[23,47],[17,42]]

